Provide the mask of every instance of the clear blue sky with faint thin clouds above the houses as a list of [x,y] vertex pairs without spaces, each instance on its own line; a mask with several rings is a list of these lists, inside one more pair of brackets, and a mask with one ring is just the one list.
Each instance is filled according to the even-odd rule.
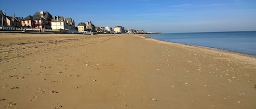
[[189,33],[255,31],[255,0],[98,0],[1,1],[7,16],[27,17],[48,11],[53,17],[92,21],[98,27],[123,26],[146,32]]

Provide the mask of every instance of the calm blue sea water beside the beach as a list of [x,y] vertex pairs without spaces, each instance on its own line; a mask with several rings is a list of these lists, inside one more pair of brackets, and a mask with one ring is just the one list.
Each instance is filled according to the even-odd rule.
[[256,31],[165,33],[148,37],[162,41],[192,44],[256,56]]

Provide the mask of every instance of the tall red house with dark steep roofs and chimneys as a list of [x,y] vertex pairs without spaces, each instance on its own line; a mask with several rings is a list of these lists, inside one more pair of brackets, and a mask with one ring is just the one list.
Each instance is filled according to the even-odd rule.
[[21,21],[22,27],[51,29],[52,15],[47,11],[35,12]]

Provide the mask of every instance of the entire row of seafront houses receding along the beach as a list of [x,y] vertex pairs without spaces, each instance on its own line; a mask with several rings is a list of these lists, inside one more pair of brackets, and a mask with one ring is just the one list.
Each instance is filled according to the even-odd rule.
[[[75,27],[75,22],[71,17],[52,16],[47,11],[35,12],[34,15],[29,15],[25,18],[7,16],[3,10],[1,12],[1,27],[16,27],[16,28],[35,28],[35,29],[52,29],[52,30],[67,30],[77,31],[78,33],[134,33],[133,29],[126,30],[122,26],[111,27],[96,27],[91,21],[86,23],[78,23]],[[135,31],[136,32],[136,31]]]

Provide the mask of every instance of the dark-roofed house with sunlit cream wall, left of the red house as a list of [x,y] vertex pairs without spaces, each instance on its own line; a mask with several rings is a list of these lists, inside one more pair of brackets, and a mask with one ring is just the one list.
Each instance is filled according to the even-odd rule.
[[6,17],[6,25],[7,27],[17,27],[21,28],[21,20],[23,17],[15,17],[15,14],[13,16],[7,16]]

